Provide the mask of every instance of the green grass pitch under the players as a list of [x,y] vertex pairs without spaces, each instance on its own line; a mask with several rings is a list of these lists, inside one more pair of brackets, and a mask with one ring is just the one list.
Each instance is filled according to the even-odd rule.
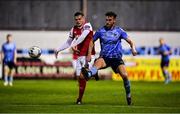
[[123,83],[89,81],[83,105],[76,105],[75,80],[0,81],[0,113],[180,113],[180,83],[131,82],[133,105],[127,106]]

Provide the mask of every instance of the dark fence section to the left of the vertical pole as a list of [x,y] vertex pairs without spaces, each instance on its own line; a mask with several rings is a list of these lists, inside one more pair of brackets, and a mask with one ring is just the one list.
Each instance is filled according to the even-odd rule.
[[79,0],[0,1],[0,29],[65,30],[73,24]]

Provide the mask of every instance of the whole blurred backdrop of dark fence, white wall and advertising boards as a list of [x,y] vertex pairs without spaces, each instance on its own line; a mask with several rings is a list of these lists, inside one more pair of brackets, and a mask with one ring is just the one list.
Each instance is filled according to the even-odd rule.
[[[1,0],[0,44],[7,34],[12,34],[18,49],[15,78],[74,79],[71,51],[67,49],[58,59],[54,57],[54,49],[68,38],[74,13],[83,11],[96,31],[104,25],[104,14],[114,11],[117,25],[127,31],[139,53],[132,57],[123,42],[123,59],[130,79],[163,81],[157,47],[159,38],[164,38],[173,51],[169,68],[172,80],[180,81],[179,6],[177,0]],[[42,49],[39,59],[29,58],[31,46]],[[99,50],[97,42],[97,57]],[[100,77],[121,80],[111,69],[102,70]]]

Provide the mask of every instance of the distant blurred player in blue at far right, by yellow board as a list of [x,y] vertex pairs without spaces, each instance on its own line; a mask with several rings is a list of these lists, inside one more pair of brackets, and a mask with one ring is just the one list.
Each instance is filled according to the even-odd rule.
[[168,72],[167,68],[169,66],[170,55],[172,54],[171,47],[168,46],[163,38],[159,39],[159,53],[161,54],[161,70],[165,78],[165,84],[171,81],[171,74]]

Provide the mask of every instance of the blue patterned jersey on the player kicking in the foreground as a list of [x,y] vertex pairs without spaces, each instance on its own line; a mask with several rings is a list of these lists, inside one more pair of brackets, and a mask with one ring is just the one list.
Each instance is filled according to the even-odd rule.
[[121,39],[126,39],[127,33],[118,26],[107,29],[105,26],[94,34],[94,42],[100,39],[100,56],[106,58],[122,58]]

